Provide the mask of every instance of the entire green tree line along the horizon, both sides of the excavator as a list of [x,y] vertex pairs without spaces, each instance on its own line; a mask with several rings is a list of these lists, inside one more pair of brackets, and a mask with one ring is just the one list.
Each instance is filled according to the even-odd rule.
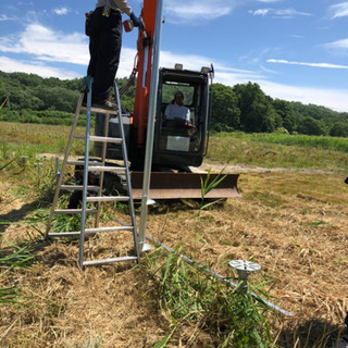
[[[42,78],[35,74],[0,72],[0,121],[66,124],[73,121],[83,78]],[[126,78],[117,79],[119,87]],[[348,137],[348,113],[328,108],[273,99],[258,84],[233,87],[214,84],[210,128],[214,132],[330,135]],[[132,111],[135,86],[122,97]],[[82,119],[82,123],[84,120]]]

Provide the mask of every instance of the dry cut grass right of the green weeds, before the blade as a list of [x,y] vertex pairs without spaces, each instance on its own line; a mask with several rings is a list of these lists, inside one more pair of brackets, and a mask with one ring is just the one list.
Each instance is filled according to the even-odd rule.
[[324,331],[337,330],[347,313],[348,189],[343,179],[247,174],[240,179],[241,199],[196,216],[192,211],[152,215],[149,233],[165,245],[183,245],[221,274],[228,271],[219,265],[232,259],[258,262],[274,277],[275,302],[294,314],[279,343],[293,347],[302,337],[303,347],[309,334],[312,345]]

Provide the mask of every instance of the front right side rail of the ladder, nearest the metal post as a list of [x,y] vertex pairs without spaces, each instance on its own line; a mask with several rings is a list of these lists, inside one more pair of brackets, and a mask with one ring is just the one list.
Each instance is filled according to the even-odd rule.
[[130,183],[130,174],[129,174],[129,165],[128,165],[127,144],[126,144],[126,138],[125,138],[125,133],[124,133],[124,127],[123,127],[123,114],[122,114],[121,99],[120,99],[120,92],[119,92],[119,87],[117,87],[116,80],[114,80],[114,90],[115,90],[116,101],[117,101],[117,107],[119,107],[120,135],[121,135],[121,138],[123,139],[121,148],[122,148],[122,156],[123,156],[125,173],[126,173],[127,190],[128,190],[128,196],[129,196],[129,214],[130,214],[130,221],[132,221],[132,225],[133,225],[134,247],[135,247],[135,252],[137,256],[137,261],[139,262],[140,261],[140,250],[139,250],[139,244],[138,244],[138,231],[137,231],[137,225],[136,225],[135,210],[134,210],[134,202],[133,202],[133,195],[132,195],[132,183]]

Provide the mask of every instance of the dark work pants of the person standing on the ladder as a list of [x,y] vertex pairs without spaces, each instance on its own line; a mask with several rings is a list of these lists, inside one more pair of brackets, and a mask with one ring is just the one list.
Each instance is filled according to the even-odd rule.
[[97,8],[89,22],[90,61],[87,74],[94,77],[94,100],[104,101],[112,89],[122,45],[122,16],[112,11],[109,17]]

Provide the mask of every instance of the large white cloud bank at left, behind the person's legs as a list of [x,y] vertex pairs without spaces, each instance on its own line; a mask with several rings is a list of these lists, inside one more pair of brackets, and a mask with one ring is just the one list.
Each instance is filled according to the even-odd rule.
[[[75,78],[85,74],[89,62],[85,35],[66,35],[40,24],[29,24],[22,33],[0,37],[0,52],[17,55],[17,59],[1,57],[2,71],[33,73],[42,77]],[[122,48],[117,76],[130,74],[135,55],[135,49]],[[73,63],[82,73],[49,66],[52,63]]]

